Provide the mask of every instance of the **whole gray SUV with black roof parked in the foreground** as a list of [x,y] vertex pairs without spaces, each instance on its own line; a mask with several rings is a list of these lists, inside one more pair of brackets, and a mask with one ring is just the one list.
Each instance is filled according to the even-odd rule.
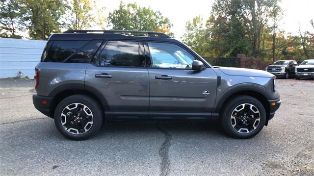
[[73,140],[89,138],[104,121],[210,119],[232,137],[249,138],[281,102],[274,75],[212,67],[157,32],[52,34],[35,73],[36,109]]

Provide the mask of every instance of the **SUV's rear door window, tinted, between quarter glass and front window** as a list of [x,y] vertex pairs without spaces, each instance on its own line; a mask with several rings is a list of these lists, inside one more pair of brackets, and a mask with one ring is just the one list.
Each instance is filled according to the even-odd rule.
[[139,67],[138,42],[108,41],[100,54],[100,64],[104,66]]

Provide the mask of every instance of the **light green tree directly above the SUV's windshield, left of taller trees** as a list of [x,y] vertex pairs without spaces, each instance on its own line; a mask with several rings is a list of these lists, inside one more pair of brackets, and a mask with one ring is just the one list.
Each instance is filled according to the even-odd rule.
[[183,43],[189,46],[192,50],[202,56],[208,56],[208,32],[203,24],[203,18],[197,16],[192,21],[185,24],[185,33],[181,37]]

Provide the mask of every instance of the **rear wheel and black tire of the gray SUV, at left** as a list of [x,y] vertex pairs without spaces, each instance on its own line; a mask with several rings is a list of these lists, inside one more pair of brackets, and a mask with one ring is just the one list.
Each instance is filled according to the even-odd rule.
[[101,109],[94,99],[85,95],[73,95],[57,105],[54,124],[63,136],[71,140],[85,140],[102,126]]

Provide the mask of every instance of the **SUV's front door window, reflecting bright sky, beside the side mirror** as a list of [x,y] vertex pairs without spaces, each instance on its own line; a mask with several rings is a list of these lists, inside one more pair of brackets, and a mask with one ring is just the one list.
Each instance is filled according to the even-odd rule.
[[148,42],[152,65],[156,68],[192,69],[195,59],[183,48],[168,43]]

